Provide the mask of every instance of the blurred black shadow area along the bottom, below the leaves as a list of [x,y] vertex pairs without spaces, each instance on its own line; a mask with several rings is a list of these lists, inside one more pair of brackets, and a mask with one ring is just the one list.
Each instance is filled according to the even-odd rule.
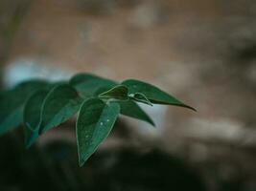
[[1,190],[205,190],[184,160],[157,149],[98,152],[79,168],[76,145],[57,141],[25,150],[15,136],[0,140]]

